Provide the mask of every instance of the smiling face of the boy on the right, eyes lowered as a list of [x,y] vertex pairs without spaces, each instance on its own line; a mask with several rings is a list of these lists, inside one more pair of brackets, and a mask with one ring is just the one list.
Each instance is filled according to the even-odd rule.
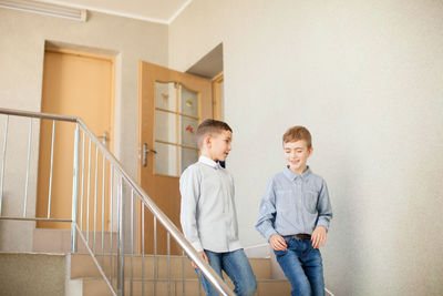
[[284,150],[285,160],[289,169],[297,174],[305,172],[307,169],[306,162],[312,153],[312,147],[308,149],[306,141],[299,140],[284,143]]

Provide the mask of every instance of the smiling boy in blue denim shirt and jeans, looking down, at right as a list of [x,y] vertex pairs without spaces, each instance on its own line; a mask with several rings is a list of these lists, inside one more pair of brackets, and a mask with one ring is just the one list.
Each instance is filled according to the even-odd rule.
[[332,218],[324,180],[307,166],[311,134],[290,127],[282,137],[287,167],[274,175],[260,203],[257,231],[269,242],[291,295],[323,296],[323,267],[319,247]]

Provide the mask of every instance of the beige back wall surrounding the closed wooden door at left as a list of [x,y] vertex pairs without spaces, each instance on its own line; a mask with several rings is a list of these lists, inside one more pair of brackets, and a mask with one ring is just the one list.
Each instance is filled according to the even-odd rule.
[[[135,177],[138,60],[167,65],[167,34],[168,28],[164,24],[102,13],[90,13],[87,22],[78,22],[0,8],[0,106],[40,111],[47,40],[114,52],[116,57],[114,151],[124,167]],[[3,121],[0,125],[3,125]],[[23,127],[23,137],[27,139],[28,125]],[[39,131],[38,126],[34,131]],[[34,136],[33,140],[33,146],[37,147],[38,137]],[[16,155],[22,156],[8,163],[7,198],[3,205],[8,207],[9,213],[18,214],[21,213],[19,212],[21,203],[17,201],[24,191],[24,171],[19,169],[25,167],[28,146],[12,142],[11,145],[14,146],[8,149]],[[38,149],[33,150],[31,157],[34,160],[31,172],[35,176]],[[13,174],[20,175],[20,178]],[[34,182],[30,184],[30,190],[29,213],[34,210]],[[27,228],[24,233],[18,232],[17,228],[7,232],[4,222],[0,225],[2,229],[0,249],[30,249],[32,223],[28,226],[17,226]]]

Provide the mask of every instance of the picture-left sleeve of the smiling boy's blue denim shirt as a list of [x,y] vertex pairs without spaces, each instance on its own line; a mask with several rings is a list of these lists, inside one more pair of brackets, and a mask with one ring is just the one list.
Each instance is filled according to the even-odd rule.
[[274,182],[270,180],[266,186],[265,194],[260,202],[258,222],[256,229],[267,239],[272,234],[277,234],[274,228],[274,222],[276,217],[276,194],[274,192]]

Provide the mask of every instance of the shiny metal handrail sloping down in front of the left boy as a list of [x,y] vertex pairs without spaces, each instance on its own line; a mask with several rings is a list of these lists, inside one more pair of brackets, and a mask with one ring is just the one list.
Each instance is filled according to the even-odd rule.
[[[25,118],[38,118],[38,119],[48,119],[48,120],[56,120],[56,121],[65,121],[65,122],[75,122],[78,124],[78,129],[75,132],[75,146],[78,147],[79,142],[79,126],[83,130],[84,133],[87,134],[90,140],[96,145],[96,147],[101,149],[101,152],[106,156],[107,161],[111,163],[114,170],[117,170],[122,177],[130,184],[133,191],[137,193],[141,197],[143,204],[151,211],[151,213],[158,220],[165,229],[175,238],[175,241],[179,244],[179,246],[184,249],[184,252],[188,255],[188,257],[198,266],[198,268],[203,272],[205,277],[214,285],[214,287],[222,293],[223,295],[234,296],[235,294],[229,288],[229,286],[213,271],[213,268],[202,258],[202,256],[196,252],[196,249],[192,246],[190,243],[186,241],[182,232],[172,223],[172,221],[158,208],[158,206],[151,200],[151,197],[146,194],[146,192],[131,178],[130,174],[123,169],[122,164],[119,160],[107,150],[107,147],[99,140],[99,137],[90,130],[90,127],[78,116],[65,116],[65,115],[56,115],[49,113],[40,113],[40,112],[31,112],[31,111],[19,111],[11,109],[0,108],[0,114],[7,115],[17,115],[17,116],[25,116]],[[76,152],[78,153],[78,152]],[[74,159],[74,170],[75,162],[78,162],[78,157],[75,154]],[[74,178],[75,178],[74,172]],[[75,192],[74,195],[75,196]],[[76,235],[75,232],[79,231],[76,225],[76,203],[73,200],[73,208],[72,208],[72,242],[71,242],[71,251],[76,251]],[[121,210],[122,211],[122,210]],[[22,218],[18,218],[22,220]],[[34,218],[38,220],[38,218]],[[69,222],[69,221],[66,221]],[[75,224],[75,225],[74,225]],[[122,228],[121,228],[122,231]],[[80,232],[81,234],[81,232]],[[81,237],[84,238],[81,234]],[[89,249],[90,251],[90,249]],[[95,258],[94,258],[95,259]],[[124,261],[124,254],[123,254]],[[95,264],[96,261],[94,261]],[[123,265],[124,266],[124,265]],[[124,268],[124,267],[123,267]],[[101,271],[102,273],[102,271]],[[104,275],[102,273],[102,275]],[[123,292],[124,293],[124,292]]]

